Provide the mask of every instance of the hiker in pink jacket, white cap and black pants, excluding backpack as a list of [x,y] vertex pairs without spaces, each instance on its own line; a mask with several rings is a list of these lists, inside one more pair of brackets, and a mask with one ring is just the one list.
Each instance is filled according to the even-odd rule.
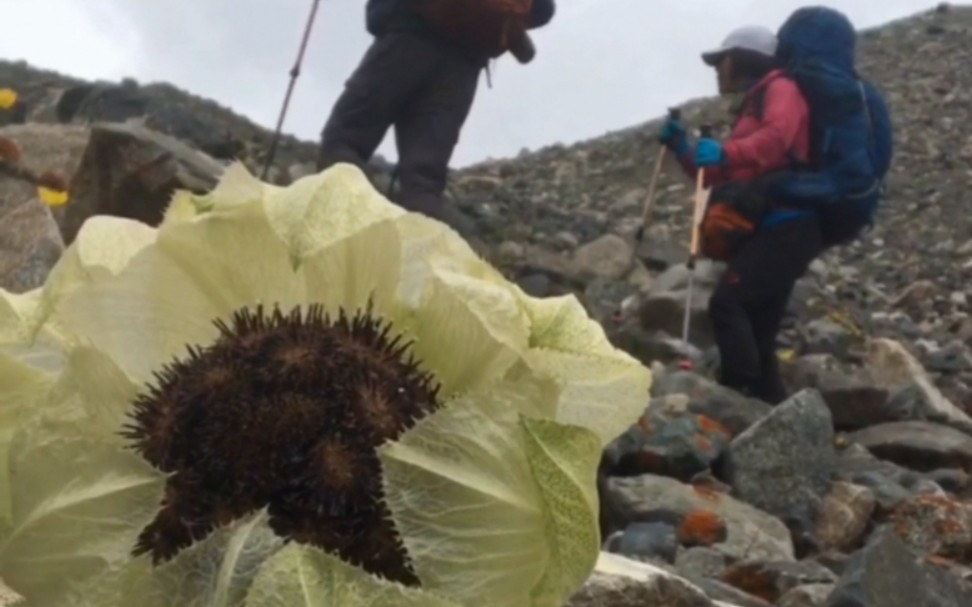
[[[777,69],[776,36],[747,26],[704,53],[715,68],[719,93],[740,95],[725,141],[688,141],[670,120],[662,142],[693,178],[704,169],[707,186],[754,182],[792,166],[809,153],[809,107],[796,83]],[[815,213],[774,200],[755,231],[728,260],[709,301],[723,385],[776,404],[786,398],[778,369],[776,337],[796,281],[822,250]]]

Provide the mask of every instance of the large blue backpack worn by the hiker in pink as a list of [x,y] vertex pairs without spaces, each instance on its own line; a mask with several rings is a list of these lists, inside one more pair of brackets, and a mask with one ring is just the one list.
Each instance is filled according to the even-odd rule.
[[772,180],[787,206],[815,209],[825,246],[873,224],[891,166],[892,125],[881,93],[854,69],[857,33],[831,8],[796,10],[777,33],[777,59],[810,107],[810,157]]

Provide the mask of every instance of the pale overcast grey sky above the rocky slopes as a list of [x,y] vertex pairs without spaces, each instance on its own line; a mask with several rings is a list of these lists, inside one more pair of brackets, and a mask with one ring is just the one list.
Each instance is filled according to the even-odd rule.
[[[311,0],[0,0],[0,56],[74,76],[165,80],[258,123],[276,123]],[[733,27],[775,29],[797,0],[559,0],[536,60],[503,58],[481,79],[453,157],[463,166],[571,143],[715,93],[699,53]],[[830,0],[858,27],[934,0]],[[965,2],[955,4],[967,4]],[[284,130],[316,141],[370,42],[364,0],[322,0]],[[394,160],[392,137],[380,149]]]

